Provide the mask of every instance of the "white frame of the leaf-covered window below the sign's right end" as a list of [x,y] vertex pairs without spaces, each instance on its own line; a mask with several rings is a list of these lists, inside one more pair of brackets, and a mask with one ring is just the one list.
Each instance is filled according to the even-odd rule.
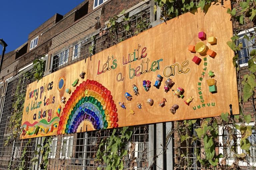
[[[237,123],[236,125],[241,125],[241,123]],[[250,122],[249,124],[245,124],[246,126],[255,126],[255,123],[253,122]],[[233,127],[233,125],[231,125],[231,127]],[[235,127],[233,127],[235,128]],[[240,130],[236,129],[237,130],[237,154],[241,154],[243,153],[243,149],[241,149],[240,147],[240,138],[241,138],[241,132]],[[219,126],[219,143],[223,146],[223,138],[222,138],[222,132],[223,132],[223,126]],[[223,148],[222,147],[219,147],[219,153],[224,153],[223,152]],[[228,159],[228,158],[227,158]],[[219,162],[221,163],[222,161],[222,158],[219,159]],[[227,165],[232,165],[234,163],[234,160],[228,160],[227,162]],[[256,162],[249,162],[251,166],[256,166]],[[248,166],[248,164],[244,161],[239,161],[238,163],[239,166]]]

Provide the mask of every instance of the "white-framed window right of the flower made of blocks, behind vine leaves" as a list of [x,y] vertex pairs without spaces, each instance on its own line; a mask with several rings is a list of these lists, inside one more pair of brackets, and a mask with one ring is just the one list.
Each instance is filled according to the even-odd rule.
[[[238,44],[242,43],[243,45],[243,49],[241,49],[240,51],[238,51],[239,54],[239,65],[241,67],[243,66],[247,66],[248,65],[248,60],[250,59],[250,52],[253,50],[253,48],[255,49],[255,46],[253,45],[255,43],[255,38],[252,38],[251,34],[255,34],[255,30],[254,28],[246,30],[246,31],[242,31],[238,34],[239,40],[238,40]],[[249,39],[252,38],[252,40],[247,40],[246,38],[244,38],[244,36],[247,35],[249,37]]]

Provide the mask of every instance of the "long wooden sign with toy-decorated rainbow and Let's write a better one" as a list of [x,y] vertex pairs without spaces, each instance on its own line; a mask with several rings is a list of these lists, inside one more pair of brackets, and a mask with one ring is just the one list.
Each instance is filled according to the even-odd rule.
[[230,15],[212,5],[45,76],[27,88],[21,137],[238,114],[230,37]]

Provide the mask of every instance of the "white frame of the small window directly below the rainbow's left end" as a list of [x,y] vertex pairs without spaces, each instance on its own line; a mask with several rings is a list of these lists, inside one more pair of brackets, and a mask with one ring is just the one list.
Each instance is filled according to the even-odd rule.
[[[63,143],[64,143],[64,140],[67,140],[67,143],[66,143],[66,150],[65,150],[65,155],[62,155],[62,152],[63,151]],[[72,153],[73,153],[73,143],[74,143],[74,136],[65,136],[65,137],[62,137],[62,141],[61,141],[61,150],[60,150],[60,158],[61,159],[71,159],[72,157]],[[70,150],[71,148],[71,150]],[[69,153],[71,153],[71,155],[69,155]]]

